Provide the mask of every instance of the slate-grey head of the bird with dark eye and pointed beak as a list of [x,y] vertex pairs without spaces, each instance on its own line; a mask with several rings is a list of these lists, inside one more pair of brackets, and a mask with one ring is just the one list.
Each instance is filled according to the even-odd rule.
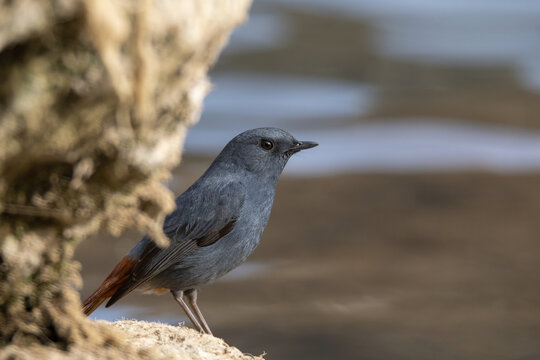
[[258,128],[237,135],[225,146],[219,158],[229,161],[231,166],[277,178],[293,154],[317,145],[312,141],[296,140],[285,130]]

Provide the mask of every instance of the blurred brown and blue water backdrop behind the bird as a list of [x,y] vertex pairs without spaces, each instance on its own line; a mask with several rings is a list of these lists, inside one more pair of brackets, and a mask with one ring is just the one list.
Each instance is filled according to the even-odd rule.
[[[218,337],[267,359],[540,358],[540,2],[256,0],[211,78],[175,194],[246,129],[320,143],[255,254],[200,290]],[[139,238],[78,247],[82,297]],[[189,324],[169,295],[92,317]]]

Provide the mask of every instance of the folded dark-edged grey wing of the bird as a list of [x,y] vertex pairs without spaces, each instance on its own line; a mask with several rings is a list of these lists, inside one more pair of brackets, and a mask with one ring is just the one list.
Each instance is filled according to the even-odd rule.
[[163,231],[171,240],[167,248],[150,241],[126,281],[111,297],[107,306],[152,279],[193,250],[212,245],[230,233],[244,204],[245,190],[239,182],[219,189],[188,191],[177,200],[177,209],[165,219]]

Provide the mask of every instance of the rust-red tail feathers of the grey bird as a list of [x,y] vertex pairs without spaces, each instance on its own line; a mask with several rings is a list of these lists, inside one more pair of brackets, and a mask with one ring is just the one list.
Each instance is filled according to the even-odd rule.
[[135,264],[137,264],[137,260],[127,256],[124,256],[120,260],[109,276],[103,280],[99,288],[83,302],[83,312],[86,316],[90,315],[105,300],[113,296],[116,290],[129,279]]

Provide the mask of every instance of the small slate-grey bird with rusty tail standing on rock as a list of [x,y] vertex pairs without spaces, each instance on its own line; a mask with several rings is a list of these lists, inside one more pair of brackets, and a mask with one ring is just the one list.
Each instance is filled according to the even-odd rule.
[[170,245],[160,248],[144,236],[84,301],[83,312],[90,315],[107,299],[109,307],[135,289],[170,291],[193,326],[212,334],[197,306],[197,288],[225,275],[255,250],[287,161],[317,145],[277,128],[237,135],[176,198],[176,209],[163,225]]

